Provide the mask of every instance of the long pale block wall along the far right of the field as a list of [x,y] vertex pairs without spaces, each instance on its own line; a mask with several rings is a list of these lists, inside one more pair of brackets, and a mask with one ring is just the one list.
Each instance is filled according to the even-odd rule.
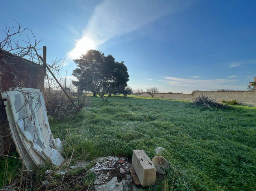
[[[241,104],[248,106],[256,106],[256,91],[196,91],[195,94],[155,94],[156,98],[174,99],[193,101],[198,95],[206,95],[216,100],[237,100]],[[141,96],[151,97],[148,93],[143,93]]]

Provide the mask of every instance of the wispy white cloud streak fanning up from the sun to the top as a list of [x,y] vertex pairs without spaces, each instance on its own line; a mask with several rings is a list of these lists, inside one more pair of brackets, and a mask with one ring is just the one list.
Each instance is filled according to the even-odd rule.
[[69,58],[79,58],[89,49],[96,49],[109,39],[140,28],[157,18],[186,9],[191,1],[180,0],[104,0],[98,4],[77,40]]

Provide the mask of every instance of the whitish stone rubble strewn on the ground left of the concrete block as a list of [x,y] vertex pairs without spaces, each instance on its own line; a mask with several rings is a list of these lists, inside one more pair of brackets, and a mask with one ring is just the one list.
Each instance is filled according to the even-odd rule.
[[[124,165],[120,164],[119,160],[120,158],[117,156],[98,157],[93,161],[76,160],[76,165],[70,166],[70,169],[78,169],[79,167],[83,168],[93,162],[94,165],[91,169],[87,170],[87,172],[85,171],[84,174],[93,173],[96,176],[95,182],[93,182],[95,191],[132,191],[139,189],[139,187],[134,185],[135,182],[130,175],[130,172],[135,173],[130,160],[125,158],[125,162],[123,163]],[[68,163],[68,161],[66,162]],[[130,171],[129,167],[133,170]],[[69,168],[59,169],[54,174],[65,175],[68,171]],[[53,172],[54,171],[49,169],[45,171],[45,175],[51,176]],[[139,181],[139,179],[137,180]],[[45,183],[46,185],[48,184],[47,182],[42,182],[43,185],[45,185]]]

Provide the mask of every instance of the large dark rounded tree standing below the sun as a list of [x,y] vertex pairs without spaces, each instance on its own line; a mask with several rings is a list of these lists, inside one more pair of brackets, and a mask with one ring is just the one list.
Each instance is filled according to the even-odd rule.
[[[74,62],[78,68],[74,69],[72,75],[76,76],[78,81],[72,83],[82,91],[100,95],[102,100],[107,100],[111,93],[119,93],[129,81],[124,61],[116,62],[112,55],[105,56],[100,51],[90,50]],[[106,99],[104,93],[108,94]]]

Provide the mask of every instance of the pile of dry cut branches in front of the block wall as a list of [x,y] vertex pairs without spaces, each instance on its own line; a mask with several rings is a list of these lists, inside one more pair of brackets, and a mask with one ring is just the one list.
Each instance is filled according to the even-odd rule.
[[197,96],[193,102],[195,103],[196,106],[206,106],[210,109],[213,109],[214,107],[219,109],[228,108],[228,106],[220,104],[217,100],[205,95]]

